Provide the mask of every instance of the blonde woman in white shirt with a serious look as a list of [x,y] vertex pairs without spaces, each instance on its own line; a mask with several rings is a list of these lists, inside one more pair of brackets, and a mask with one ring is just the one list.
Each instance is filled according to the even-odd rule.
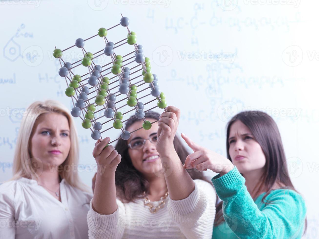
[[21,122],[13,178],[0,185],[0,238],[88,238],[92,194],[77,164],[69,111],[56,101],[34,102]]

